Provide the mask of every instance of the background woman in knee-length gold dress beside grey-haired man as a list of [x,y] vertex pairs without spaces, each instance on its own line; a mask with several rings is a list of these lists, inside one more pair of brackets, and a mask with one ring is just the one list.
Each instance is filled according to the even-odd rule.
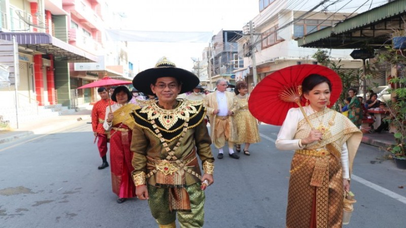
[[245,143],[244,155],[250,155],[248,151],[250,144],[261,141],[258,131],[258,122],[248,110],[248,84],[246,82],[237,82],[235,86],[235,105],[238,111],[235,114],[235,123],[237,125],[238,141],[237,151],[241,150],[241,144]]

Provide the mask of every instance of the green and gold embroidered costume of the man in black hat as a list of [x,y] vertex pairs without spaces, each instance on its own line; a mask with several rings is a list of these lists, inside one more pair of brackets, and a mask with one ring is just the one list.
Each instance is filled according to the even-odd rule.
[[183,99],[171,110],[160,108],[155,100],[142,105],[133,112],[134,183],[148,185],[148,203],[158,224],[172,224],[178,214],[183,226],[201,227],[205,194],[197,155],[205,173],[213,174],[214,169],[203,121],[206,110],[201,101]]

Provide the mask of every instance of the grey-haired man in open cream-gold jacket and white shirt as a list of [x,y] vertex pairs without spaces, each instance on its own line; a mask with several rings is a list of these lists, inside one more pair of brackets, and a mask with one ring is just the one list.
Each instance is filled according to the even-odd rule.
[[228,84],[224,79],[217,80],[217,91],[206,95],[204,101],[209,116],[211,137],[216,148],[219,149],[218,159],[223,158],[223,146],[228,141],[228,156],[233,159],[240,157],[234,153],[234,142],[237,139],[237,129],[234,114],[237,110],[234,94],[226,91]]

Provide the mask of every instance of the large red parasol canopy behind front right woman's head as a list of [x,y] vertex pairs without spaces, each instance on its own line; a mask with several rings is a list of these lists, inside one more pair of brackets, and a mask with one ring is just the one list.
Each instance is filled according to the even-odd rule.
[[[304,78],[310,74],[320,74],[331,82],[331,107],[339,99],[342,91],[340,76],[328,67],[315,64],[289,66],[267,75],[255,86],[248,100],[252,115],[261,122],[281,126],[288,110],[298,107],[295,102],[286,102],[281,94],[287,90],[297,90]],[[304,105],[304,101],[301,100]]]

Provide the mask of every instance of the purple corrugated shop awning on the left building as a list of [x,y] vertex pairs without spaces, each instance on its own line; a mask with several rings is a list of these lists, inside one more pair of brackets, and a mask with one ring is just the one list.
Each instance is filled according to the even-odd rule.
[[73,45],[67,44],[48,33],[38,32],[0,32],[0,39],[11,41],[16,37],[19,47],[33,50],[43,54],[52,54],[55,60],[66,60],[70,62],[90,61],[97,62],[98,57],[94,56]]

